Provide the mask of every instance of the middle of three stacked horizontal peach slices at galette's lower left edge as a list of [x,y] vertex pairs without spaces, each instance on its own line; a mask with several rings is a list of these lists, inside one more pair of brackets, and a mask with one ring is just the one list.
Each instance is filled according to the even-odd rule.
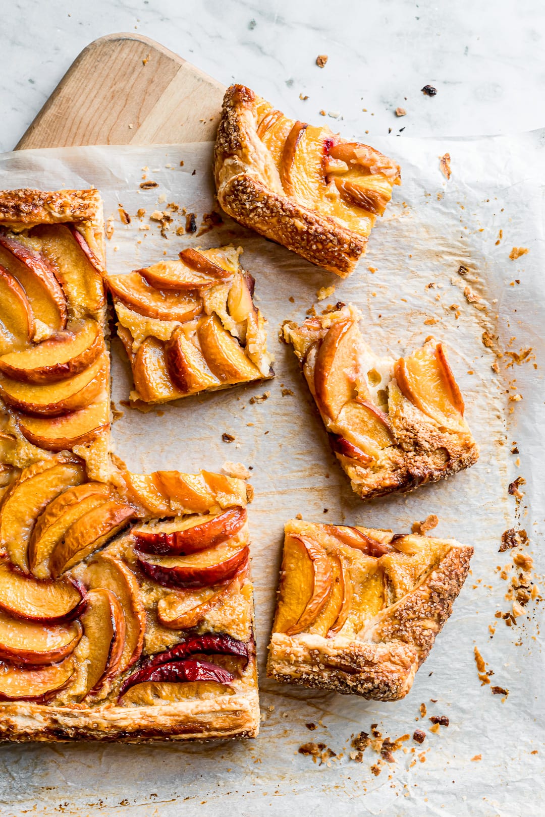
[[0,659],[10,663],[57,663],[74,652],[81,636],[78,621],[46,626],[0,612]]

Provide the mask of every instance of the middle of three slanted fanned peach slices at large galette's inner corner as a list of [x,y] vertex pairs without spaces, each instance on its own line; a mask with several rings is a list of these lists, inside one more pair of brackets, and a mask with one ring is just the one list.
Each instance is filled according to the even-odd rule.
[[61,493],[49,503],[38,516],[29,543],[30,569],[37,578],[49,575],[49,557],[65,538],[70,525],[87,511],[104,504],[111,493],[111,487],[105,483],[86,482]]

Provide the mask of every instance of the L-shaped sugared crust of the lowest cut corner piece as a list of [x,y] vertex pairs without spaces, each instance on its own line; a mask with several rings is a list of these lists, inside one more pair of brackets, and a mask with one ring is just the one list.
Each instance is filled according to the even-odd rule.
[[357,639],[273,633],[267,675],[284,683],[395,701],[413,685],[467,577],[473,548],[453,545],[418,587]]

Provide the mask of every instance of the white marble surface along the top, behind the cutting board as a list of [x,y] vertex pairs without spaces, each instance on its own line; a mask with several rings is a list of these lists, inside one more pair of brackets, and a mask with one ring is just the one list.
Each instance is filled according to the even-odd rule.
[[[16,145],[88,42],[134,30],[299,118],[340,114],[347,135],[545,125],[543,0],[0,0],[2,7],[0,150]],[[324,69],[318,54],[328,54]],[[427,83],[434,98],[420,91]],[[404,118],[395,117],[397,106]]]

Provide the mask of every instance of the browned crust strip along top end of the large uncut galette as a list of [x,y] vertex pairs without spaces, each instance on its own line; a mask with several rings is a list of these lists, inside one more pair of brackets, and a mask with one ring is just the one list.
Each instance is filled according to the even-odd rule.
[[101,215],[98,190],[0,190],[0,223],[9,225],[59,224],[93,221]]

